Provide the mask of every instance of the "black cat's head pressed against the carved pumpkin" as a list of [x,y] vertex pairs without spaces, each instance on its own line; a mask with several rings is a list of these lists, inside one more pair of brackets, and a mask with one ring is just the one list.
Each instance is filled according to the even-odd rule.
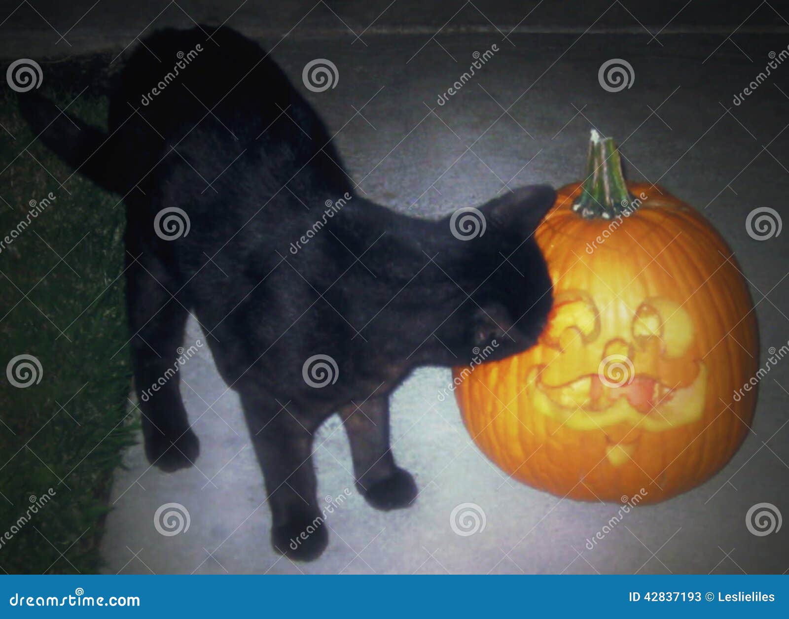
[[548,185],[529,185],[447,218],[462,254],[447,274],[465,296],[436,333],[451,364],[503,359],[537,343],[553,297],[534,231],[555,196]]

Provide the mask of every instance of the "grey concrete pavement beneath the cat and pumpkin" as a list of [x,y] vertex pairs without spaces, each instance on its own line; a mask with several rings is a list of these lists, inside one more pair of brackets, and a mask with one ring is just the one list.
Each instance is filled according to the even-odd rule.
[[[755,207],[789,215],[789,132],[784,130],[789,66],[776,69],[741,106],[733,106],[732,98],[764,69],[769,52],[789,43],[786,34],[749,35],[747,27],[783,28],[786,23],[763,3],[742,32],[728,38],[750,9],[743,9],[723,35],[671,34],[668,29],[650,40],[615,5],[611,11],[634,28],[632,34],[584,34],[581,28],[578,33],[516,32],[503,39],[487,23],[467,28],[473,32],[458,27],[435,34],[447,19],[450,27],[480,21],[466,16],[473,11],[469,3],[458,3],[465,7],[459,17],[453,21],[446,9],[443,21],[433,25],[428,20],[432,29],[424,32],[374,31],[363,41],[338,32],[312,39],[310,20],[329,28],[338,19],[321,4],[286,39],[266,35],[261,40],[275,48],[274,58],[294,84],[301,85],[301,69],[313,58],[335,63],[336,88],[305,90],[305,95],[331,130],[339,131],[339,151],[361,189],[413,214],[432,217],[472,206],[505,185],[574,181],[581,176],[589,129],[615,136],[623,143],[631,179],[660,181],[701,209],[731,244],[757,303],[763,363],[769,347],[789,340],[789,244],[786,233],[754,241],[745,221]],[[518,9],[494,22],[514,24],[525,13]],[[143,22],[141,29],[155,11],[140,10],[140,16],[135,19]],[[228,23],[242,30],[249,25],[236,18]],[[653,33],[664,21],[655,23],[649,26]],[[477,76],[446,105],[436,105],[466,71],[473,52],[494,43],[499,52]],[[21,55],[25,48],[16,50]],[[600,87],[597,71],[609,58],[624,58],[633,66],[631,88],[608,92]],[[187,340],[196,337],[199,330],[191,324]],[[753,432],[720,474],[679,498],[630,513],[594,550],[585,548],[586,539],[617,507],[562,501],[507,479],[473,445],[454,402],[439,401],[449,371],[424,368],[395,393],[392,405],[394,452],[421,487],[417,504],[398,513],[369,508],[353,491],[346,438],[338,421],[331,420],[316,439],[320,495],[337,497],[346,488],[352,495],[327,521],[331,543],[323,557],[297,565],[269,546],[270,516],[238,400],[226,393],[208,351],[190,360],[181,377],[201,440],[199,470],[165,475],[148,468],[140,446],[129,449],[127,468],[114,482],[114,511],[103,541],[107,572],[789,569],[789,527],[757,537],[745,522],[748,509],[760,502],[789,514],[789,360],[761,382]],[[154,514],[170,502],[188,510],[189,529],[163,536]],[[486,526],[460,536],[452,531],[450,516],[466,502],[481,506]]]

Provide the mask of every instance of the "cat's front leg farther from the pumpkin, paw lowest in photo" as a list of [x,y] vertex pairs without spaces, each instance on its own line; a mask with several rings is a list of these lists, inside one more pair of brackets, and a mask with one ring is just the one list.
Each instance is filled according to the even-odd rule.
[[312,561],[328,544],[312,466],[312,438],[320,423],[256,390],[241,390],[240,395],[266,482],[271,545],[291,559]]

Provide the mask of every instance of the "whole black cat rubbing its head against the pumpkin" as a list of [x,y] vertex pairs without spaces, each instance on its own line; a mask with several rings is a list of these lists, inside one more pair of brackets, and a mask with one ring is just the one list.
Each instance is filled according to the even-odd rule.
[[[328,416],[342,417],[367,501],[406,507],[417,487],[390,450],[391,391],[413,367],[468,364],[475,347],[492,346],[488,360],[520,352],[547,319],[551,281],[532,236],[552,188],[439,221],[372,203],[312,107],[229,28],[145,39],[118,78],[108,134],[34,93],[21,109],[44,144],[127,204],[148,459],[175,471],[199,452],[178,375],[144,393],[172,374],[194,311],[241,396],[272,543],[294,559],[327,544],[310,457]],[[464,217],[477,218],[476,234]]]

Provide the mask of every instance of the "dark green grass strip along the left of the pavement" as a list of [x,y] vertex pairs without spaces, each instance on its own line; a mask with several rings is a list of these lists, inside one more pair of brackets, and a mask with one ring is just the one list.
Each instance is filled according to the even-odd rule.
[[[64,106],[77,92],[47,94]],[[34,136],[12,95],[2,84],[0,240],[32,199],[55,199],[0,252],[0,570],[96,572],[112,471],[136,428],[127,415],[125,208],[78,174],[61,188],[72,170],[43,145],[23,152]],[[69,111],[104,125],[107,100],[86,92]],[[6,378],[21,354],[39,360],[38,384]],[[54,498],[12,535],[31,497],[49,488]]]

